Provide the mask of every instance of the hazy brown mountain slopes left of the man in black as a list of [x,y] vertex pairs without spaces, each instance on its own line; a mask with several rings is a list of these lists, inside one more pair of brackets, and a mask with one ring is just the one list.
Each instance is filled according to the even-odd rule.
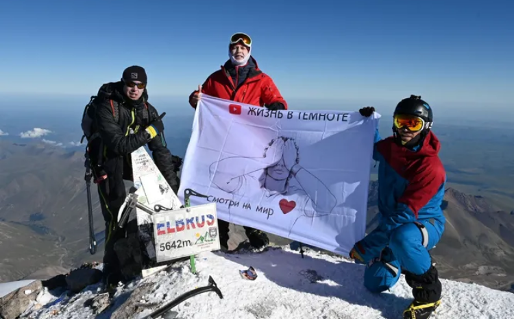
[[[0,220],[4,223],[0,231],[13,231],[14,227],[18,234],[0,245],[0,256],[9,259],[3,261],[9,267],[0,267],[0,281],[23,278],[38,266],[71,268],[101,258],[88,255],[82,152],[0,141],[0,167]],[[104,226],[94,184],[91,193],[97,242],[101,244]],[[17,259],[20,254],[30,256],[34,263]]]

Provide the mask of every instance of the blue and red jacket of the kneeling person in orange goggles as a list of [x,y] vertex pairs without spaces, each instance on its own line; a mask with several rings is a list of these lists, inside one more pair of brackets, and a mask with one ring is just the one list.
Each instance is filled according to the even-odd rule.
[[[439,159],[441,144],[430,131],[417,150],[397,145],[393,137],[375,133],[373,158],[378,161],[378,209],[380,223],[356,244],[365,262],[380,255],[395,228],[409,222],[433,219],[443,228],[446,172]],[[442,233],[442,229],[441,229]]]

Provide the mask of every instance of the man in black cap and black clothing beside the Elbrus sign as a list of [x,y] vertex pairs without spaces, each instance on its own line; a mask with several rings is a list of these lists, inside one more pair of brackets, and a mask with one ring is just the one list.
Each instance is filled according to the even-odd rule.
[[[95,99],[94,114],[90,115],[101,141],[101,145],[96,146],[102,154],[99,156],[101,165],[93,170],[93,174],[106,222],[103,273],[108,284],[123,281],[122,265],[114,252],[114,244],[125,237],[116,223],[117,213],[127,195],[123,180],[133,180],[130,154],[148,145],[154,162],[175,193],[180,184],[177,172],[182,158],[173,156],[167,148],[162,115],[159,116],[156,108],[149,104],[146,84],[145,69],[128,67],[123,71],[121,81],[101,86]],[[114,116],[116,113],[119,118]]]

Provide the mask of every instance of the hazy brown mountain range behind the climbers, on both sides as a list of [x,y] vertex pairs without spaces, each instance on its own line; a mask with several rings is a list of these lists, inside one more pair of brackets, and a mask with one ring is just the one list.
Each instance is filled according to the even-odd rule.
[[[0,141],[0,282],[53,276],[84,261],[101,261],[103,218],[92,185],[99,248],[88,252],[84,154],[45,143]],[[369,187],[367,231],[377,224],[378,185]],[[498,290],[514,283],[514,212],[449,187],[441,242],[432,250],[441,276]],[[242,228],[230,244],[243,240]],[[289,239],[271,236],[286,244]]]

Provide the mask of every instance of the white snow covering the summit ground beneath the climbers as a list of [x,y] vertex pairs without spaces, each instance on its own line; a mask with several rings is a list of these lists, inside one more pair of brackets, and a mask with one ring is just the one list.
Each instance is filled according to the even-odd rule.
[[[402,318],[404,308],[412,300],[411,288],[406,285],[403,275],[390,292],[371,294],[363,286],[364,265],[314,250],[305,252],[303,259],[299,252],[282,247],[261,253],[233,255],[219,251],[204,252],[196,260],[197,274],[190,272],[189,263],[185,261],[169,272],[161,271],[119,288],[114,295],[114,305],[96,318],[109,318],[112,311],[142,283],[154,283],[154,291],[140,302],[164,305],[184,292],[208,285],[209,276],[217,283],[223,299],[215,292],[193,296],[173,308],[178,312],[178,318],[393,319]],[[251,265],[256,269],[257,279],[242,279],[238,270],[245,270]],[[316,274],[321,277],[316,278]],[[432,318],[514,318],[514,294],[476,284],[441,281],[442,304]],[[32,312],[25,312],[25,318],[95,318],[93,309],[85,307],[84,303],[97,291],[99,285],[91,285],[70,300],[55,305],[51,302],[59,295],[44,292],[39,296],[39,305]],[[144,318],[155,309],[146,308],[134,314],[133,318]]]

